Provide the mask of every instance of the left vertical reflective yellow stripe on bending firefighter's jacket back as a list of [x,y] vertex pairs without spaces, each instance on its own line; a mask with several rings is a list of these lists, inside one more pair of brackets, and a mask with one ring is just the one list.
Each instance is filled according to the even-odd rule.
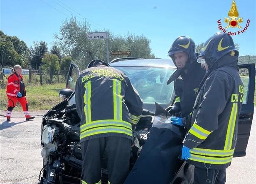
[[91,122],[91,81],[88,81],[84,84],[85,93],[84,93],[84,113],[86,123]]

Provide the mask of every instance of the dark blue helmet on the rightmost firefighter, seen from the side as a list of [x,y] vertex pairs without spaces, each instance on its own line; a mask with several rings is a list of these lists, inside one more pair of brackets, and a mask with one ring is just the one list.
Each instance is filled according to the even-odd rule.
[[203,45],[199,57],[204,56],[208,67],[211,68],[224,55],[239,56],[234,41],[227,33],[216,33]]

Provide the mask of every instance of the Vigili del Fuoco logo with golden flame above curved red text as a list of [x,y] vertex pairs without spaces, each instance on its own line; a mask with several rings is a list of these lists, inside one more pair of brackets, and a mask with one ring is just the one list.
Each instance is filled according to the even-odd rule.
[[239,17],[239,13],[237,11],[237,7],[236,7],[236,2],[235,0],[233,0],[232,5],[231,5],[231,9],[229,10],[229,18],[225,17],[224,22],[226,23],[226,25],[222,25],[221,19],[219,19],[218,22],[218,26],[219,26],[219,30],[221,30],[222,32],[226,33],[227,30],[229,29],[233,29],[233,28],[238,28],[240,29],[239,31],[235,31],[232,32],[231,30],[229,32],[227,32],[229,35],[231,36],[235,36],[235,35],[239,35],[241,33],[244,33],[250,24],[250,20],[248,19],[246,21],[246,25],[244,26],[244,29],[242,29],[242,25],[241,23],[244,22],[242,17]]

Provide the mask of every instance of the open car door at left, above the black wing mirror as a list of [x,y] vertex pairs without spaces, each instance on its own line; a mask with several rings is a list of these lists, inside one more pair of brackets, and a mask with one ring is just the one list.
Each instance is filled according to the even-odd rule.
[[79,68],[76,64],[71,62],[69,66],[69,72],[67,74],[67,79],[66,79],[66,88],[71,89],[72,91],[75,91],[75,86],[76,86],[76,80],[79,76]]

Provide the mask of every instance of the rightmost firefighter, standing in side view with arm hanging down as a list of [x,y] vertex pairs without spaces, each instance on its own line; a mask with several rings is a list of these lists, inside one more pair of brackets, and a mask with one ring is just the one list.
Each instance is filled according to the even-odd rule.
[[194,184],[226,182],[244,98],[238,56],[231,36],[216,33],[204,43],[197,59],[207,65],[209,72],[199,86],[192,124],[182,148],[182,158],[195,166]]

